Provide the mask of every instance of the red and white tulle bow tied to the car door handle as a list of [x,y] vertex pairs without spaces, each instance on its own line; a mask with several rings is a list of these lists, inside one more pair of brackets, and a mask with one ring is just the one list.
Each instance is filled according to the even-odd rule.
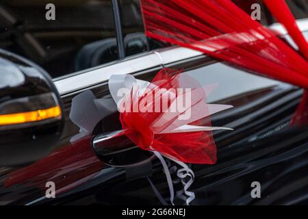
[[194,164],[214,164],[216,145],[209,116],[231,105],[207,104],[216,84],[202,87],[182,70],[163,68],[151,83],[112,75],[109,88],[125,134],[141,149]]

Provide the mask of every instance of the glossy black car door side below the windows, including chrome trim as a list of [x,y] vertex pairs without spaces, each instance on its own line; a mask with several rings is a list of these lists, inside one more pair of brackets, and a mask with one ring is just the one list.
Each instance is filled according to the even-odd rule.
[[[279,181],[279,177],[283,178],[290,172],[286,171],[282,176],[270,180],[274,176],[273,172],[279,170],[279,165],[290,162],[283,159],[283,156],[277,158],[277,155],[287,151],[283,155],[290,153],[293,158],[291,162],[296,156],[305,157],[305,150],[303,153],[292,153],[289,149],[290,145],[298,141],[305,142],[306,132],[293,129],[281,131],[287,127],[292,112],[296,109],[300,90],[236,70],[196,51],[183,48],[158,49],[55,78],[55,86],[61,94],[66,118],[64,134],[57,150],[29,166],[1,169],[0,203],[159,204],[146,178],[127,180],[125,169],[106,166],[97,158],[91,149],[90,141],[95,133],[102,130],[97,131],[97,125],[89,125],[87,127],[92,127],[92,130],[85,131],[85,127],[71,119],[70,113],[72,100],[76,96],[92,92],[94,97],[81,99],[77,107],[77,118],[80,115],[86,116],[81,119],[90,118],[92,114],[88,114],[88,111],[93,99],[110,98],[107,88],[110,75],[132,74],[139,79],[150,81],[163,66],[183,67],[185,73],[196,77],[203,84],[220,83],[214,96],[209,96],[208,101],[235,106],[234,110],[212,117],[215,125],[235,128],[235,131],[227,133],[214,133],[218,145],[218,164],[192,166],[196,173],[196,181],[192,186],[192,191],[197,196],[196,204],[257,203],[257,199],[250,196],[253,181],[265,183],[270,194],[275,191],[270,188],[277,185],[275,182]],[[275,109],[279,108],[283,110],[275,112]],[[118,129],[116,117],[111,116],[104,122],[105,131]],[[283,145],[274,144],[277,139],[292,135],[300,136],[299,140]],[[270,137],[266,138],[267,136]],[[268,145],[270,146],[266,148]],[[305,149],[305,145],[298,144],[298,150],[302,148]],[[267,157],[270,153],[272,159]],[[157,160],[153,163],[151,179],[162,196],[168,198],[168,185],[162,167]],[[271,165],[274,168],[270,168]],[[301,168],[305,168],[305,165],[307,164],[303,162],[302,166],[296,169],[295,175]],[[55,183],[55,198],[46,196],[48,182]],[[176,188],[180,189],[179,186]],[[279,197],[273,200],[279,200]]]

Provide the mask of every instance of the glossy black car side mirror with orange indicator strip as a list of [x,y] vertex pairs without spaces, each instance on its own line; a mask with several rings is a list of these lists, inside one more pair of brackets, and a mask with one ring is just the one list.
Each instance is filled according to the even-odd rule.
[[48,155],[62,133],[62,112],[51,77],[29,60],[0,49],[0,167]]

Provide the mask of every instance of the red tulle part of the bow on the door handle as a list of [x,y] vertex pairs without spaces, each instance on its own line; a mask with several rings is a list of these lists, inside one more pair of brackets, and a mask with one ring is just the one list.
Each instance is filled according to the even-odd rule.
[[[214,164],[216,145],[211,131],[166,133],[185,124],[211,127],[205,90],[194,79],[180,73],[181,70],[163,68],[144,94],[139,96],[139,88],[131,90],[125,99],[125,110],[120,113],[120,121],[125,130],[122,134],[147,151],[158,151],[185,163]],[[181,95],[178,88],[183,89],[183,94],[188,92],[185,88],[191,89],[191,105],[181,112],[171,112],[170,106]],[[168,92],[157,92],[164,89]],[[168,101],[164,102],[167,93]],[[160,110],[155,110],[157,106]],[[133,112],[133,108],[139,111]],[[146,112],[142,108],[146,108]],[[188,110],[191,111],[190,118],[180,120],[179,116]]]

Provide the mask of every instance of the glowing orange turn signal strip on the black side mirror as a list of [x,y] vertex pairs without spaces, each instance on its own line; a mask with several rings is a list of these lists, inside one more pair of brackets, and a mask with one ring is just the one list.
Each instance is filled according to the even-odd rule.
[[14,125],[21,123],[31,123],[49,118],[60,118],[61,107],[59,105],[44,110],[35,110],[31,112],[21,112],[16,114],[0,115],[0,125]]

